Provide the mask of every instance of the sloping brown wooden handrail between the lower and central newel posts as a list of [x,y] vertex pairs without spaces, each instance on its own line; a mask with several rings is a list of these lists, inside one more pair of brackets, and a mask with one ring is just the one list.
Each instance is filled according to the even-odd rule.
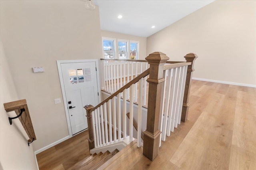
[[94,111],[95,109],[97,109],[98,107],[100,107],[101,105],[103,105],[104,103],[106,103],[107,101],[109,101],[110,99],[112,99],[113,97],[115,97],[116,95],[118,95],[118,93],[121,93],[122,91],[124,91],[124,89],[129,88],[132,84],[137,83],[140,79],[142,79],[143,77],[146,77],[149,74],[149,69],[146,69],[143,73],[141,73],[140,75],[138,75],[137,77],[135,77],[134,79],[132,79],[130,82],[128,82],[126,85],[124,85],[123,87],[121,87],[118,91],[116,91],[115,93],[113,93],[112,95],[110,95],[109,97],[107,97],[104,101],[100,102],[100,104],[98,104],[97,106],[95,106],[93,109],[90,109],[90,113],[92,113],[92,111]]

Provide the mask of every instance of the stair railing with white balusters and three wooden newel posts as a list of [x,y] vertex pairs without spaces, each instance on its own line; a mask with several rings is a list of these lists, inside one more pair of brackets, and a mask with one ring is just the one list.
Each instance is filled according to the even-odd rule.
[[[144,96],[145,99],[143,93],[146,93],[147,81],[148,109],[146,130],[143,132],[143,154],[150,160],[154,160],[158,154],[160,138],[165,140],[166,135],[170,136],[170,131],[173,131],[173,128],[177,127],[180,121],[185,122],[187,119],[190,81],[196,58],[194,53],[189,53],[185,56],[186,62],[167,61],[169,57],[164,53],[151,53],[146,57],[148,64],[150,64],[149,69],[112,93],[96,107],[86,105],[84,108],[87,113],[90,150],[123,140],[130,142],[133,140],[134,96],[137,95],[137,92],[137,144],[138,147],[141,146],[142,98]],[[133,67],[133,63],[129,67]],[[111,68],[115,68],[115,66],[111,66]],[[122,66],[119,68],[121,69]],[[108,67],[108,71],[110,71],[110,67]],[[104,73],[104,75],[107,74]],[[120,78],[122,79],[122,76]],[[117,80],[119,82],[118,76]],[[108,80],[108,82],[110,81]],[[111,83],[113,82],[111,81]],[[128,121],[126,120],[126,113],[128,112],[130,112],[130,120],[126,125],[126,121]]]

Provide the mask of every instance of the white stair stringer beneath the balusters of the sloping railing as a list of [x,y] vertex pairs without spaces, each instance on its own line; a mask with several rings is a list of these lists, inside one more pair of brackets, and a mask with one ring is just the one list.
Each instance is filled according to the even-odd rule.
[[[134,140],[134,138],[133,138]],[[127,146],[130,143],[129,136],[126,136],[126,138],[121,138],[119,141],[114,143],[109,143],[104,146],[100,146],[97,148],[93,148],[90,150],[90,154],[98,154],[100,152],[104,153],[106,151],[113,152],[114,150],[122,150],[125,146]]]

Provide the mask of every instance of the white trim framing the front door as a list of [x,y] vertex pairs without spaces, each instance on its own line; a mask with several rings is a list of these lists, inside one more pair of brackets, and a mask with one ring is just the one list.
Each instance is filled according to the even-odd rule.
[[[97,76],[97,88],[98,88],[98,100],[99,102],[101,101],[101,93],[100,93],[100,76],[99,76],[99,65],[98,65],[98,59],[82,59],[82,60],[57,60],[57,66],[58,66],[58,72],[59,72],[59,77],[60,77],[60,86],[61,86],[61,91],[62,91],[62,97],[63,97],[63,103],[64,103],[64,109],[66,113],[66,118],[67,118],[67,123],[68,123],[68,133],[69,137],[71,138],[72,131],[71,131],[71,124],[70,124],[70,119],[68,115],[68,105],[66,103],[66,92],[65,92],[65,87],[64,87],[64,80],[62,77],[62,69],[61,69],[61,64],[62,63],[84,63],[84,62],[95,62],[96,65],[96,76]],[[79,132],[78,132],[79,133]],[[78,134],[76,133],[76,134]],[[76,135],[74,134],[74,135]]]

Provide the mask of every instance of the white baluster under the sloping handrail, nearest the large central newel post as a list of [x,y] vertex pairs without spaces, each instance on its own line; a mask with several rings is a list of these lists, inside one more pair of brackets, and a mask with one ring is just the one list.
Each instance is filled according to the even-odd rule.
[[138,101],[138,132],[137,132],[137,146],[141,146],[141,123],[142,123],[142,91],[143,91],[143,79],[139,80],[139,101]]

